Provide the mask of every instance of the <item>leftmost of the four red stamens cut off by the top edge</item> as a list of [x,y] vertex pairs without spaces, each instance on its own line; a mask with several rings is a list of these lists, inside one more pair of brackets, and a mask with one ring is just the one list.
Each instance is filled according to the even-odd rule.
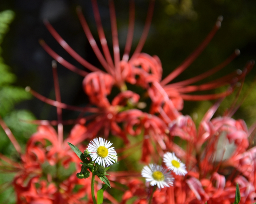
[[96,26],[97,26],[97,30],[98,30],[98,34],[99,34],[99,38],[100,38],[100,43],[101,43],[101,46],[103,49],[103,53],[105,55],[105,58],[106,58],[108,64],[114,70],[115,66],[114,66],[112,57],[110,55],[107,40],[106,40],[104,30],[103,30],[103,27],[101,24],[100,12],[99,12],[99,8],[98,8],[97,0],[91,0],[91,2],[92,2],[93,14],[94,14],[94,18],[96,21]]

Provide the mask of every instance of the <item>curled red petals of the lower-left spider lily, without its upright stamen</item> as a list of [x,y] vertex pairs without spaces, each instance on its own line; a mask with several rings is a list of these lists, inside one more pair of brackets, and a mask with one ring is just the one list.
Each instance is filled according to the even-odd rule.
[[[1,120],[1,125],[3,126],[3,124],[4,122]],[[9,135],[11,134],[6,128],[5,131]],[[63,144],[60,144],[53,127],[41,125],[38,127],[38,132],[29,139],[25,154],[20,153],[20,163],[12,162],[4,156],[1,157],[16,168],[17,173],[13,185],[17,195],[17,203],[87,203],[81,201],[81,198],[85,195],[90,196],[89,180],[77,179],[75,172],[68,179],[61,181],[58,184],[59,188],[57,188],[57,184],[52,182],[52,179],[56,178],[52,178],[52,175],[44,172],[43,169],[45,162],[52,166],[61,164],[65,168],[68,168],[72,162],[78,164],[77,170],[80,171],[80,160],[67,145],[67,142],[78,144],[86,138],[86,133],[87,129],[83,125],[77,124],[71,130],[69,137],[65,139]],[[46,140],[51,145],[46,145]],[[47,173],[47,180],[42,180],[45,173]],[[77,185],[82,185],[82,188],[78,192],[74,192],[74,187]]]

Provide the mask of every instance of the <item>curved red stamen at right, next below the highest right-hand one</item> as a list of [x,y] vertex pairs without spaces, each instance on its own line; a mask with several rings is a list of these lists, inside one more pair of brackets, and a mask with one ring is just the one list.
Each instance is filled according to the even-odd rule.
[[196,77],[193,77],[193,78],[190,78],[190,79],[187,79],[187,80],[184,80],[184,81],[180,81],[180,82],[177,82],[177,83],[173,83],[173,84],[168,84],[166,86],[170,86],[170,87],[171,86],[185,86],[185,85],[188,85],[188,84],[193,84],[195,82],[198,82],[202,79],[205,79],[205,78],[209,77],[210,75],[216,73],[217,71],[221,70],[222,68],[226,67],[239,54],[240,54],[239,49],[236,49],[234,51],[234,53],[232,55],[230,55],[225,61],[220,63],[218,66],[210,69],[209,71],[207,71],[205,73],[202,73],[202,74],[199,74]]

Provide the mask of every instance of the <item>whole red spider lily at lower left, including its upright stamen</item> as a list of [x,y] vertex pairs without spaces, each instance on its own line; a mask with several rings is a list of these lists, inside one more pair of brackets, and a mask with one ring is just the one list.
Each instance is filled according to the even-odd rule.
[[[53,68],[56,102],[61,104],[56,67],[53,66]],[[17,203],[92,203],[90,194],[88,194],[90,183],[87,181],[81,183],[76,178],[77,172],[73,172],[81,170],[80,159],[67,144],[67,142],[71,142],[77,145],[85,140],[88,137],[87,128],[82,124],[76,124],[70,135],[63,140],[62,110],[58,105],[58,121],[56,124],[58,133],[49,125],[49,121],[35,121],[35,123],[44,125],[40,125],[38,131],[30,137],[24,154],[21,152],[21,148],[12,132],[0,118],[0,125],[14,144],[21,158],[19,163],[1,156],[1,159],[9,163],[13,171],[16,172],[13,185],[17,195]],[[76,164],[76,168],[73,170],[71,163]],[[48,171],[48,167],[55,169],[57,173]],[[61,177],[58,174],[61,168],[66,168],[67,170],[64,169],[65,171],[71,169],[67,175]],[[79,185],[83,187],[76,192],[75,187]],[[88,195],[89,201],[81,201],[86,195]]]

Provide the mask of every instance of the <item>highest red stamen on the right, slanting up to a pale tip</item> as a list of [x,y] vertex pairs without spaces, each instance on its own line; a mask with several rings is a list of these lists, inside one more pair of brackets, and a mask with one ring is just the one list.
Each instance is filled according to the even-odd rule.
[[219,17],[217,22],[215,23],[214,28],[210,31],[210,33],[206,36],[205,40],[194,50],[194,52],[189,55],[180,66],[178,66],[173,72],[171,72],[165,79],[161,81],[161,85],[164,86],[174,78],[176,78],[180,73],[182,73],[192,62],[201,54],[201,52],[205,49],[205,47],[209,44],[211,39],[214,37],[215,33],[221,27],[221,21],[223,17]]

